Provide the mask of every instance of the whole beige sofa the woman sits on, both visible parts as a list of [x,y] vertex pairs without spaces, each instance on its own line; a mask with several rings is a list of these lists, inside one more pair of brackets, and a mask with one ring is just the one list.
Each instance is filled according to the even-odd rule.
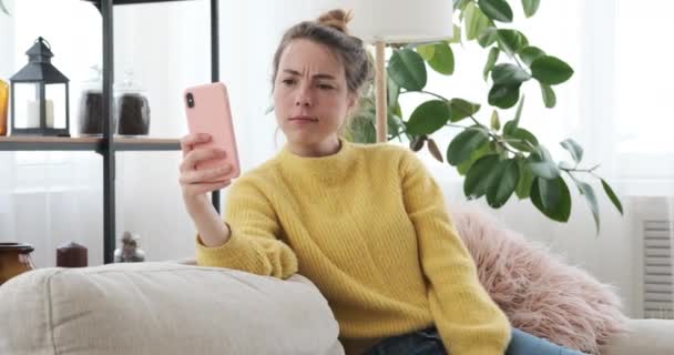
[[[630,328],[602,354],[674,354],[674,322]],[[0,354],[339,355],[338,332],[299,275],[139,263],[42,268],[0,286]]]

